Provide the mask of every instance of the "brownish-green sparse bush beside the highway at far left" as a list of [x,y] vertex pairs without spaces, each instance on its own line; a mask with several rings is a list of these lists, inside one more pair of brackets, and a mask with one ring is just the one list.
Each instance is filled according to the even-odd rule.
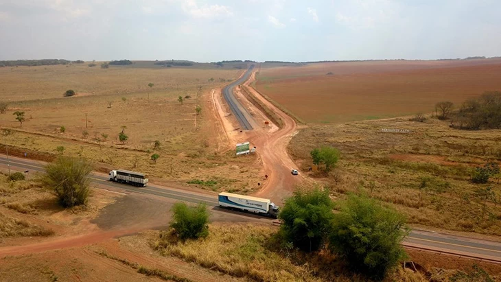
[[89,198],[89,174],[92,167],[82,159],[60,156],[45,167],[41,180],[45,187],[54,190],[62,207],[86,204]]

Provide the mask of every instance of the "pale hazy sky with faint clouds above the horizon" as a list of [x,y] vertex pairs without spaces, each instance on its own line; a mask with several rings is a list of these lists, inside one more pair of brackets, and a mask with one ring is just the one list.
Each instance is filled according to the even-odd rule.
[[501,56],[500,0],[0,0],[0,60]]

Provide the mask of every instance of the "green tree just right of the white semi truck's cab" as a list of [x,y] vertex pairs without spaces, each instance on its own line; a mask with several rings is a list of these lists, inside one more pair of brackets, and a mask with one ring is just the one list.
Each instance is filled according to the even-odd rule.
[[292,242],[301,250],[318,250],[329,235],[333,209],[334,202],[327,189],[299,188],[279,213],[283,222],[280,233],[286,242]]

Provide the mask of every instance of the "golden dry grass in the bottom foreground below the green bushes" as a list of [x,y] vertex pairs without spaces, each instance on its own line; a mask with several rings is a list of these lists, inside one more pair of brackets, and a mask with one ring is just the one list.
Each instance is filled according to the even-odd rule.
[[[321,252],[303,255],[279,250],[270,226],[209,226],[210,235],[198,241],[177,242],[169,233],[152,247],[162,255],[180,257],[211,270],[250,281],[365,281],[346,272],[342,261]],[[398,270],[388,281],[426,281],[421,274]]]

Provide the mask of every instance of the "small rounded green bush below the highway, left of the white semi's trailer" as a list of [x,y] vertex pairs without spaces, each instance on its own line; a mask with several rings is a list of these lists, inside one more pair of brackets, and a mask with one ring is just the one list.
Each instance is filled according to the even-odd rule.
[[209,235],[209,213],[205,204],[188,207],[184,202],[176,202],[172,207],[174,220],[170,227],[182,240],[205,238]]

